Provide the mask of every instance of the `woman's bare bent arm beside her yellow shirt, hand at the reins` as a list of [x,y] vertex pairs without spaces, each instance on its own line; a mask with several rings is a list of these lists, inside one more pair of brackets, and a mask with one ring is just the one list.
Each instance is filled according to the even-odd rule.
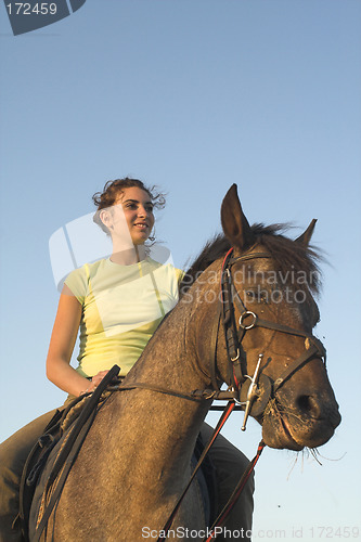
[[98,380],[101,379],[96,380],[99,376],[96,375],[95,382],[89,382],[70,366],[80,319],[81,305],[68,286],[64,285],[49,345],[47,376],[55,386],[73,396],[79,396],[83,391],[93,391],[99,384]]

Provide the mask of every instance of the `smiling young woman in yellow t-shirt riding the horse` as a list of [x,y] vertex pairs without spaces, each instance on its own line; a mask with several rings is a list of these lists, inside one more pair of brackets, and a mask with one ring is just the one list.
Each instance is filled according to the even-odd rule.
[[[93,391],[106,372],[120,366],[125,376],[136,363],[151,336],[178,301],[182,272],[163,266],[149,256],[146,241],[152,236],[154,207],[164,206],[162,194],[154,194],[142,181],[119,179],[105,184],[93,196],[94,221],[112,238],[109,258],[88,263],[65,280],[47,358],[47,376],[75,396]],[[80,328],[78,366],[70,358]],[[67,400],[67,401],[68,401]],[[31,422],[0,447],[0,541],[20,541],[17,524],[18,485],[26,457],[53,415],[53,411]],[[204,440],[210,428],[204,424]],[[219,508],[225,504],[246,457],[219,436],[211,448],[216,466]],[[228,520],[228,529],[249,530],[253,513],[253,479]],[[248,540],[244,538],[243,540]]]

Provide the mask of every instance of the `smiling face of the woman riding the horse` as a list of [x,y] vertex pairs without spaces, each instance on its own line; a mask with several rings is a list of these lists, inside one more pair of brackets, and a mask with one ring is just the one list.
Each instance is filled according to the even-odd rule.
[[124,189],[116,204],[104,216],[105,225],[111,235],[124,236],[124,219],[126,219],[131,241],[142,245],[150,236],[154,225],[153,203],[147,194],[138,186]]

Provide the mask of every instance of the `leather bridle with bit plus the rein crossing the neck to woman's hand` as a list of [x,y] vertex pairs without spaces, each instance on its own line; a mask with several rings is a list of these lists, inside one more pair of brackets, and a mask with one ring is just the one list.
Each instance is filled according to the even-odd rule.
[[[210,336],[209,371],[212,389],[195,389],[191,392],[184,392],[147,383],[131,383],[128,385],[121,383],[116,386],[116,389],[124,391],[142,388],[193,401],[215,399],[232,401],[238,403],[242,410],[245,410],[245,417],[242,426],[242,429],[245,430],[248,415],[252,414],[254,417],[260,416],[265,412],[269,400],[275,397],[276,391],[279,391],[285,382],[287,382],[301,366],[314,358],[321,359],[325,364],[326,351],[320,339],[305,331],[260,319],[256,312],[246,308],[234,286],[232,276],[232,267],[234,263],[252,259],[271,258],[272,256],[269,253],[252,253],[234,257],[233,253],[234,249],[231,248],[222,262],[220,279],[221,295],[218,300],[217,317],[214,320],[214,328]],[[235,307],[240,312],[238,325],[235,318]],[[217,344],[220,324],[222,324],[224,331],[229,361],[229,374],[227,377],[229,386],[227,390],[220,389],[220,384],[223,380],[217,375]],[[305,351],[289,363],[285,371],[274,382],[262,373],[261,361],[263,353],[259,354],[254,375],[250,376],[247,374],[247,354],[242,346],[242,341],[245,335],[255,327],[265,327],[305,338]],[[223,408],[216,406],[215,410],[223,410]]]

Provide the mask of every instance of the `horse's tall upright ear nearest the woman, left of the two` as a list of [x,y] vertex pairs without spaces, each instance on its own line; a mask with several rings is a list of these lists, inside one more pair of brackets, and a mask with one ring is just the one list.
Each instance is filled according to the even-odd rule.
[[254,243],[248,220],[243,214],[236,184],[227,192],[221,206],[221,222],[225,236],[232,245],[246,248]]

